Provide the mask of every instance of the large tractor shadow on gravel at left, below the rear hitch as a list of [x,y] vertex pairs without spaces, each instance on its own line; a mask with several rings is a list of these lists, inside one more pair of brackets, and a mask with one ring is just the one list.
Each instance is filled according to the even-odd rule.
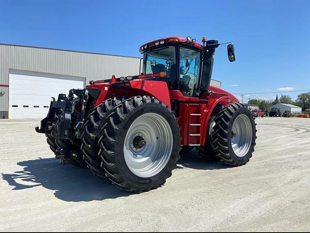
[[2,173],[13,190],[43,186],[55,190],[55,197],[66,202],[90,202],[129,196],[132,193],[121,190],[108,180],[95,177],[86,168],[69,163],[59,164],[55,158],[38,158],[18,162],[23,167],[13,174]]

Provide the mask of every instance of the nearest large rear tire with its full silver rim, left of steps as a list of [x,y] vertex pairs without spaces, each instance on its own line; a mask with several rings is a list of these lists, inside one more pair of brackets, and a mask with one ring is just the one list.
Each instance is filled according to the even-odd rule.
[[181,149],[180,128],[171,110],[149,96],[125,100],[100,131],[101,166],[116,186],[136,193],[166,182]]

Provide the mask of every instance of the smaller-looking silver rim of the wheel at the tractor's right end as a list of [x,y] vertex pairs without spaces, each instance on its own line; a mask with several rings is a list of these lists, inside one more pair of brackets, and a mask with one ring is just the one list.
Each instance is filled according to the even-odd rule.
[[238,157],[248,154],[252,143],[252,124],[247,115],[237,116],[232,127],[232,147],[233,152]]

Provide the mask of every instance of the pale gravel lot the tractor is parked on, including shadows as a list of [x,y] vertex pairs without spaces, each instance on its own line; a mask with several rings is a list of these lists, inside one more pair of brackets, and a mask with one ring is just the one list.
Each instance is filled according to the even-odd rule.
[[0,231],[310,231],[310,119],[256,122],[246,166],[193,151],[164,186],[131,194],[60,165],[39,120],[0,120]]

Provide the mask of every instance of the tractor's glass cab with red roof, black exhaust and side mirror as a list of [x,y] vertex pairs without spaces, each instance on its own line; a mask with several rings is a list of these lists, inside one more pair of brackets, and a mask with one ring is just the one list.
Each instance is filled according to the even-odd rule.
[[[170,90],[179,90],[184,96],[199,97],[208,91],[215,48],[218,41],[206,41],[203,45],[189,36],[168,37],[152,41],[140,47],[143,54],[142,74],[165,72],[165,77],[149,80],[165,81]],[[233,45],[229,45],[229,53],[233,57]]]

